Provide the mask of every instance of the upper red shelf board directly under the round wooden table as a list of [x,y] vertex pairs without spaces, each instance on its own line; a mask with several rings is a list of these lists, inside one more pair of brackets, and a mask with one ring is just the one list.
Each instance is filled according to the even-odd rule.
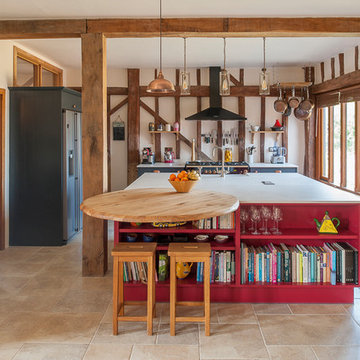
[[196,233],[196,234],[234,234],[235,229],[198,229],[192,224],[188,223],[182,226],[175,226],[171,228],[158,228],[151,224],[141,224],[140,226],[131,226],[129,223],[124,223],[119,228],[120,233],[161,233],[161,234],[181,234],[181,233]]

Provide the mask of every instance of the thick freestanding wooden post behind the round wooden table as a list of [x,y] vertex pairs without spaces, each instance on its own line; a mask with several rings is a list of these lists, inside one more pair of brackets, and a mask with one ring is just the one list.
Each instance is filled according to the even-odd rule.
[[[83,196],[107,191],[106,39],[81,35]],[[82,274],[102,276],[107,270],[107,221],[84,215]]]

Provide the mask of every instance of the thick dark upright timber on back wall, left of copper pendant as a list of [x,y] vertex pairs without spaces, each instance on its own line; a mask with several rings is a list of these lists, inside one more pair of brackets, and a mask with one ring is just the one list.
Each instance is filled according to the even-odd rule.
[[128,69],[128,184],[137,178],[140,163],[140,70]]

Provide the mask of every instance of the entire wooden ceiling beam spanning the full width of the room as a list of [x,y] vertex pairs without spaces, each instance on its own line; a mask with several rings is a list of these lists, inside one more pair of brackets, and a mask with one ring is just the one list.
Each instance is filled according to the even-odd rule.
[[[360,17],[164,18],[167,37],[360,36]],[[0,39],[159,36],[159,19],[54,19],[0,21]]]

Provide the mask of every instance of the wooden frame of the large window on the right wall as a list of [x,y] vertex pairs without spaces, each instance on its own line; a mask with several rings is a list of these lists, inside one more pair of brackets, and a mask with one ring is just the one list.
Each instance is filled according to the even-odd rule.
[[[334,105],[319,107],[317,109],[317,133],[316,133],[316,178],[336,188],[351,192],[360,193],[360,100],[354,100],[355,103],[355,188],[350,190],[346,188],[347,157],[346,157],[346,103],[340,102],[340,163],[341,178],[340,186],[335,185],[334,181]],[[323,109],[328,109],[329,128],[328,128],[328,177],[322,175],[323,172]]]

